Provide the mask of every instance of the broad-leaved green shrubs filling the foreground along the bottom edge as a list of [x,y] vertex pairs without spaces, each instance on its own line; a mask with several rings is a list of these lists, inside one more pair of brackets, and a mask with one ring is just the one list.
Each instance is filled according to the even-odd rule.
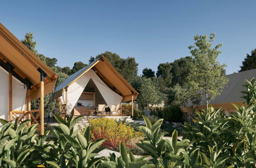
[[[60,129],[54,129],[57,140],[46,142],[35,134],[37,124],[26,120],[18,124],[0,119],[0,167],[255,167],[256,164],[256,90],[255,80],[246,81],[246,106],[237,107],[230,117],[220,108],[197,112],[194,124],[185,123],[183,140],[178,131],[172,141],[160,131],[162,119],[152,124],[144,117],[140,126],[144,138],[136,145],[149,156],[135,158],[131,150],[119,143],[120,157],[95,157],[105,147],[104,139],[90,140],[90,127],[81,133],[74,130],[81,117],[63,120],[54,115]],[[137,149],[136,149],[137,150]]]

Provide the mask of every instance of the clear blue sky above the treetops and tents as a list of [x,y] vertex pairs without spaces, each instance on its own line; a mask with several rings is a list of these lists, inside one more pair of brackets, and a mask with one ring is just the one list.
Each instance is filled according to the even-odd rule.
[[2,1],[0,21],[18,39],[34,34],[58,66],[88,63],[106,50],[135,57],[139,73],[190,55],[197,34],[216,33],[218,60],[237,72],[256,48],[256,1]]

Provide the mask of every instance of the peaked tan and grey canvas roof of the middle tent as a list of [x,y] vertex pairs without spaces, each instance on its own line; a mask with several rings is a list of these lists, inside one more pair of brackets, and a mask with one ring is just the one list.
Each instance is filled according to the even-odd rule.
[[71,86],[75,81],[77,81],[91,69],[94,70],[105,85],[123,97],[122,101],[131,101],[132,92],[134,93],[134,99],[137,98],[138,92],[122,77],[121,74],[117,72],[117,70],[110,64],[108,60],[106,60],[104,56],[69,76],[55,89],[54,97],[61,97],[63,89],[65,89],[67,86]]

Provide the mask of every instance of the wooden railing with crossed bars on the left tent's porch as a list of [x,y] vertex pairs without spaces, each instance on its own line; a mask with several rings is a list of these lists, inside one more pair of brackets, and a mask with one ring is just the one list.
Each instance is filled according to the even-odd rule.
[[[36,116],[33,116],[32,113],[36,113]],[[38,127],[40,127],[40,124],[37,122],[37,119],[38,117],[40,116],[40,109],[34,109],[34,110],[30,110],[30,111],[10,111],[10,115],[14,115],[16,118],[18,118],[18,123],[21,123],[23,119],[26,118],[27,116],[27,119],[31,119],[32,118],[32,122],[30,124],[34,124],[34,123],[37,123],[38,124]],[[18,116],[20,115],[20,116]]]

